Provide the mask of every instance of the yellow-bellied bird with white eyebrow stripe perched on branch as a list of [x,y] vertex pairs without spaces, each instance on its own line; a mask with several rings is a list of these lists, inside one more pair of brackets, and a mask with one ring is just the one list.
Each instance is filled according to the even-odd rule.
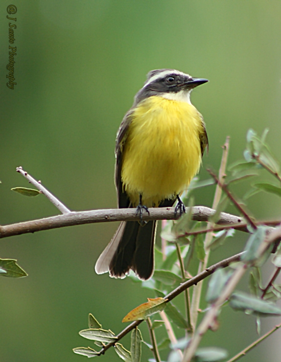
[[198,173],[208,138],[202,115],[191,104],[191,91],[208,82],[176,69],[147,74],[116,136],[115,188],[118,208],[136,208],[139,221],[122,221],[95,266],[124,278],[134,271],[147,280],[154,271],[156,221],[144,222],[151,207],[185,212],[180,199]]

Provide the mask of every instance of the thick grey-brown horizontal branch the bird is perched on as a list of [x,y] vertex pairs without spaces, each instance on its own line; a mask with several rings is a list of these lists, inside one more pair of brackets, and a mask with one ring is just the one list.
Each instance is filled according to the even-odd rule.
[[[193,220],[207,221],[215,210],[206,208],[205,206],[194,206]],[[148,213],[143,215],[143,219],[148,220],[174,220],[175,208],[151,208]],[[112,221],[136,221],[138,216],[135,215],[134,209],[107,209],[107,210],[91,210],[76,211],[64,215],[52,216],[38,220],[20,222],[16,224],[4,225],[0,228],[0,239],[10,236],[28,234],[41,230],[56,229],[59,227],[90,224],[97,222]],[[238,224],[244,223],[244,220],[236,215],[221,213],[218,224]],[[246,228],[241,229],[247,231]]]

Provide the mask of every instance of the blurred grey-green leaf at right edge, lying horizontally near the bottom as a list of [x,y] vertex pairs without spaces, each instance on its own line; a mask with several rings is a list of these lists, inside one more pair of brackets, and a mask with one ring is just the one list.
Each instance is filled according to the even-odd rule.
[[233,293],[229,304],[233,309],[251,311],[261,317],[281,316],[281,309],[275,304],[242,292]]

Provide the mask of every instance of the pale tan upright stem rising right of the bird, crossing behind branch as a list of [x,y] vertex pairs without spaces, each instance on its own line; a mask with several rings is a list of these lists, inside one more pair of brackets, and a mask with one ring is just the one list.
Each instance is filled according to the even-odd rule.
[[[222,189],[220,186],[223,184],[224,177],[225,177],[225,169],[226,169],[228,150],[229,150],[229,137],[228,136],[226,137],[225,144],[223,145],[222,148],[223,148],[222,160],[221,160],[221,165],[220,165],[220,170],[219,170],[220,185],[217,184],[214,201],[213,201],[213,209],[215,209],[215,210],[218,208],[218,204],[221,199]],[[207,228],[210,228],[210,227],[214,227],[214,223],[208,222]],[[210,249],[208,248],[208,246],[210,245],[210,242],[212,242],[212,239],[213,239],[213,233],[208,232],[205,236],[205,241],[204,241],[204,248],[205,248],[204,262],[203,263],[201,261],[199,262],[198,273],[200,273],[202,270],[204,270],[208,265],[209,253],[210,253]],[[203,286],[203,282],[199,283],[199,285],[194,287],[194,290],[193,290],[191,316],[192,316],[192,324],[193,324],[194,329],[197,324],[198,309],[200,306],[202,286]]]

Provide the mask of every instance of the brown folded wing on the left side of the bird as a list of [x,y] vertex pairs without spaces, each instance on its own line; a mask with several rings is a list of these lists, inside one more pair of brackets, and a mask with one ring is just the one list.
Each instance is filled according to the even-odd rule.
[[116,145],[115,145],[115,187],[117,193],[117,202],[119,209],[125,209],[129,207],[130,200],[123,190],[123,184],[121,180],[121,168],[122,168],[122,152],[124,148],[124,143],[126,142],[127,132],[129,125],[132,121],[133,109],[130,109],[124,116],[119,130],[116,135]]

